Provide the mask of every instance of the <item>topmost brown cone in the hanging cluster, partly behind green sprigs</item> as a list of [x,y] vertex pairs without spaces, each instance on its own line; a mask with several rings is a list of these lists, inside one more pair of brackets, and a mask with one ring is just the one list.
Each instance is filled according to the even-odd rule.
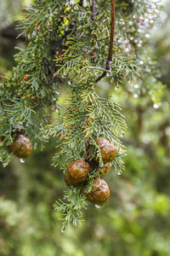
[[[104,163],[109,163],[116,157],[116,147],[114,143],[106,140],[104,137],[99,137],[96,140],[101,151],[101,157]],[[99,162],[99,159],[95,159]]]

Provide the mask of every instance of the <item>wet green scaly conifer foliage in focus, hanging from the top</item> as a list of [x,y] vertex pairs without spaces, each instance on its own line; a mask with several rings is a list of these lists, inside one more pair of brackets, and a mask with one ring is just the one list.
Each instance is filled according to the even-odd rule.
[[[3,166],[8,165],[11,155],[8,146],[18,129],[31,138],[34,148],[37,144],[42,146],[49,136],[57,137],[59,148],[53,165],[59,164],[64,173],[71,160],[85,159],[87,150],[88,161],[97,154],[99,166],[104,165],[95,143],[97,137],[105,137],[116,145],[112,166],[118,174],[124,170],[122,158],[126,148],[120,137],[127,125],[122,109],[112,98],[100,97],[96,83],[109,51],[110,5],[109,1],[97,2],[96,13],[92,14],[90,3],[35,1],[26,9],[26,18],[17,22],[17,28],[23,31],[20,36],[25,35],[28,44],[15,55],[16,67],[3,77],[0,87]],[[149,20],[144,20],[146,9]],[[146,63],[142,61],[149,51],[140,49],[142,44],[147,44],[144,33],[155,19],[153,9],[156,3],[149,1],[117,2],[114,56],[107,81],[116,89],[120,84],[139,81],[143,83],[141,97],[149,95],[157,104],[163,86],[156,82],[157,73],[150,74],[155,68],[151,57]],[[141,63],[144,67],[139,69]],[[69,96],[66,109],[59,111],[59,93],[64,86],[69,88]],[[58,112],[57,119],[48,125],[54,110]],[[86,207],[86,194],[92,187],[93,177],[98,175],[99,166],[92,166],[85,189],[82,185],[68,189],[65,201],[54,205],[63,214],[64,226],[81,221],[81,209]]]

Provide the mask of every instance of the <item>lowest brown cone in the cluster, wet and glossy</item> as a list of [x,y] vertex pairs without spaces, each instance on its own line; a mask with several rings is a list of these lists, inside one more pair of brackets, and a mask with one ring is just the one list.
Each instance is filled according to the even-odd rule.
[[109,200],[110,189],[108,184],[103,178],[95,177],[92,190],[87,195],[87,200],[93,202],[96,205],[102,205]]

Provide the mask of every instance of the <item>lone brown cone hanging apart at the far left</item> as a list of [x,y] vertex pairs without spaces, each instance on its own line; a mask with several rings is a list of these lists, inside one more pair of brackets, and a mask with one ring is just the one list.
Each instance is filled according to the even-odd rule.
[[14,143],[11,143],[9,148],[16,156],[20,158],[26,158],[32,152],[32,145],[29,137],[22,134],[14,139]]

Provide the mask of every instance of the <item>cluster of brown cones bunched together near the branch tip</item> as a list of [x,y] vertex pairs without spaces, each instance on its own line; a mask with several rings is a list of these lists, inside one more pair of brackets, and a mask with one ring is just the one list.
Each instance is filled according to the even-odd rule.
[[[104,166],[103,168],[98,168],[100,178],[94,177],[93,187],[87,195],[87,200],[96,205],[102,205],[105,201],[108,201],[110,197],[109,186],[102,177],[110,171],[111,161],[116,157],[116,147],[104,137],[99,137],[96,143],[99,146]],[[97,157],[94,158],[94,161],[99,165],[99,159]],[[86,183],[88,172],[90,172],[91,169],[90,167],[86,160],[72,160],[71,163],[67,165],[65,184],[67,186],[77,186],[80,183]]]

